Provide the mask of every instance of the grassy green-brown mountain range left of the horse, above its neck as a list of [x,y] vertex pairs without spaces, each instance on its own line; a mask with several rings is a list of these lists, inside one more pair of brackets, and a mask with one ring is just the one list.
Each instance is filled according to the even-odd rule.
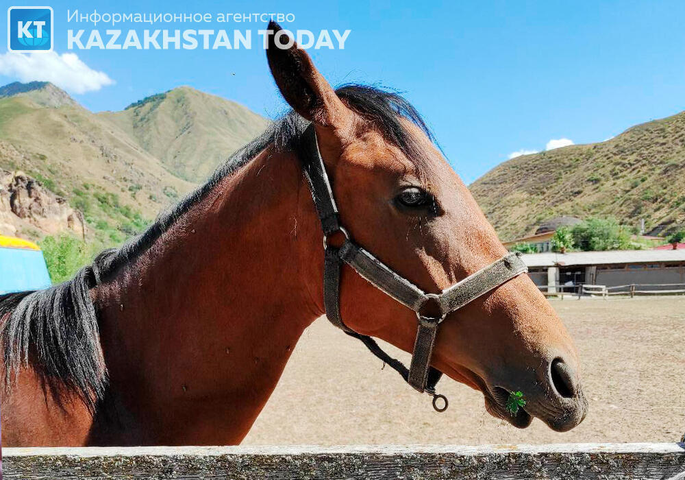
[[[266,120],[247,108],[191,88],[177,88],[159,97],[167,99],[160,102],[160,108],[151,108],[151,101],[145,99],[123,112],[93,113],[48,82],[1,87],[0,171],[5,171],[1,177],[9,183],[0,184],[0,192],[7,193],[13,179],[21,177],[32,186],[26,192],[54,194],[51,202],[83,215],[88,237],[102,245],[120,243],[195,187],[195,181],[173,173],[156,155],[161,152],[160,145],[176,145],[175,155],[169,158],[179,170],[187,162],[190,169],[210,171],[242,146],[238,139],[247,142],[266,125]],[[236,117],[229,118],[232,114]],[[127,123],[129,119],[131,123]],[[177,119],[185,123],[177,125]],[[208,126],[212,121],[217,123],[214,128]],[[224,124],[218,125],[221,122]],[[178,138],[171,139],[184,125],[182,140],[190,144],[185,147]],[[234,125],[238,125],[235,132]],[[209,152],[216,152],[213,160],[201,157]],[[16,215],[9,206],[0,208],[5,217]],[[34,206],[28,211],[39,209]],[[52,211],[57,215],[55,209],[47,212]],[[65,215],[71,214],[64,210],[58,216],[66,219]],[[20,220],[5,218],[0,235],[40,239],[55,233],[54,228],[44,228],[56,225],[49,219],[38,221],[29,215]],[[10,226],[15,231],[5,231]]]

